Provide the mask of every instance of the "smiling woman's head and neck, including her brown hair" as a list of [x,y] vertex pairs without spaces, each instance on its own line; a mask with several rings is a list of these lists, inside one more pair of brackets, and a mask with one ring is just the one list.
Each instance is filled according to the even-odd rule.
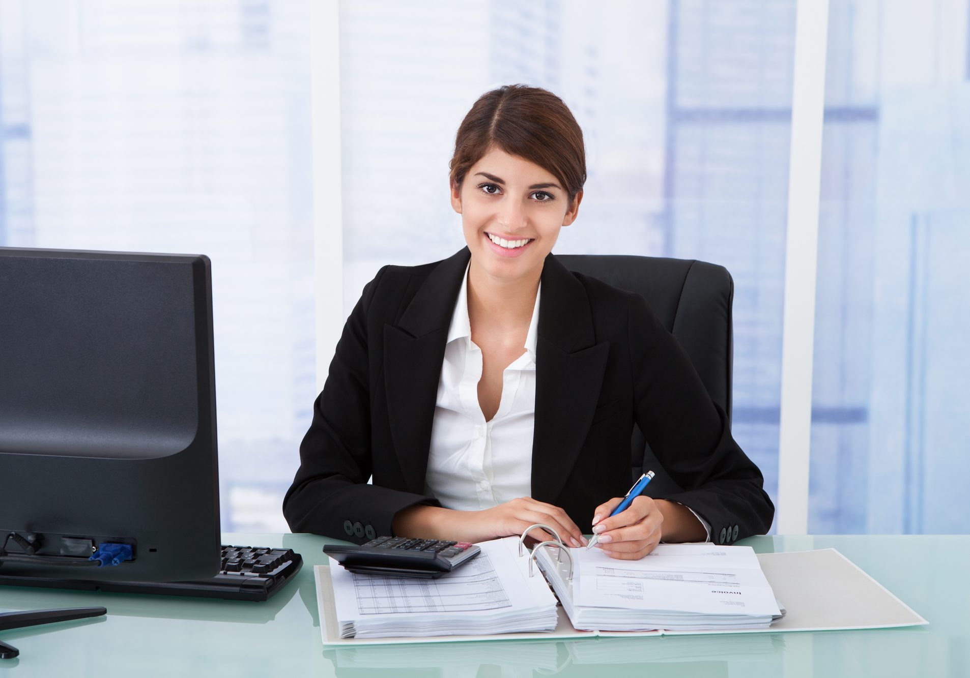
[[469,287],[496,287],[502,299],[492,299],[506,308],[518,302],[513,324],[522,325],[532,313],[542,262],[583,198],[583,132],[556,95],[506,85],[471,107],[458,128],[450,167],[451,205],[462,214],[474,262]]

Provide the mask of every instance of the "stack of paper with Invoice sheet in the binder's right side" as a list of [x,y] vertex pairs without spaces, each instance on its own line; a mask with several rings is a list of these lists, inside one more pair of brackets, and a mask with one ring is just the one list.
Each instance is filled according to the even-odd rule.
[[569,549],[538,563],[580,630],[739,630],[766,628],[781,610],[750,546],[661,544],[639,561],[599,549]]

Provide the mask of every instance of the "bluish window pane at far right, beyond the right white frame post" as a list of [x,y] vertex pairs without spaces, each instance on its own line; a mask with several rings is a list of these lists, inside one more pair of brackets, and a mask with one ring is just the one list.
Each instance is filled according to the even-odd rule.
[[832,3],[810,533],[964,533],[964,0]]

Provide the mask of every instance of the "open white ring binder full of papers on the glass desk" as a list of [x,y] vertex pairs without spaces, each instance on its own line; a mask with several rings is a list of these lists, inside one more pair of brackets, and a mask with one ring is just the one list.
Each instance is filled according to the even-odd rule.
[[[531,526],[532,531],[535,527]],[[548,530],[548,526],[544,529]],[[550,531],[554,533],[554,531]],[[314,567],[317,586],[317,604],[320,618],[320,632],[324,645],[349,645],[369,643],[413,643],[425,640],[476,640],[499,638],[576,638],[590,636],[627,636],[636,637],[655,635],[682,635],[692,633],[725,633],[725,632],[777,632],[794,630],[846,630],[846,629],[887,629],[890,627],[909,627],[926,624],[926,621],[904,603],[893,597],[865,572],[853,565],[844,556],[832,549],[821,551],[803,551],[792,553],[768,553],[756,555],[750,546],[714,546],[713,544],[662,544],[658,546],[658,555],[668,560],[663,565],[655,566],[649,562],[632,561],[620,567],[606,560],[601,554],[588,554],[581,548],[560,548],[560,554],[565,550],[569,560],[559,566],[551,554],[541,549],[533,548],[528,567],[522,563],[520,556],[516,557],[516,548],[512,541],[514,535],[482,542],[482,550],[489,556],[488,563],[479,561],[498,574],[500,579],[509,577],[509,582],[517,582],[516,587],[524,586],[531,592],[531,596],[515,596],[507,601],[514,609],[506,609],[508,605],[495,608],[488,602],[487,609],[475,609],[475,616],[459,617],[459,627],[455,627],[456,615],[453,612],[464,610],[446,610],[447,623],[443,623],[440,609],[404,610],[398,608],[396,613],[381,618],[374,617],[371,608],[361,611],[360,604],[366,600],[372,604],[376,597],[407,598],[406,604],[422,605],[422,599],[427,592],[415,596],[404,595],[392,590],[381,593],[378,589],[379,580],[372,583],[356,582],[354,575],[339,566],[317,565]],[[543,541],[541,544],[560,546],[562,542],[554,540]],[[548,547],[543,547],[548,548]],[[593,568],[589,591],[606,591],[619,593],[625,598],[626,604],[597,604],[599,599],[591,600],[593,604],[579,604],[579,582],[586,576],[587,565],[596,559],[610,570],[607,573],[606,587],[597,587],[598,574]],[[714,559],[714,564],[710,561]],[[494,560],[494,563],[493,563]],[[534,577],[535,561],[544,575]],[[654,559],[650,559],[651,561]],[[494,566],[493,566],[494,565]],[[577,565],[579,566],[577,568]],[[598,565],[597,565],[598,566]],[[763,567],[762,567],[763,566]],[[527,575],[526,569],[530,572]],[[569,570],[568,572],[566,570]],[[657,609],[647,609],[643,604],[634,604],[629,596],[629,587],[617,587],[617,577],[623,573],[634,575],[633,579],[642,583],[638,587],[647,597],[650,605],[660,597],[669,600]],[[705,573],[704,581],[695,581],[692,573]],[[642,573],[643,576],[635,576]],[[671,574],[681,574],[680,578],[671,578]],[[752,607],[747,612],[724,614],[723,610],[714,606],[714,612],[703,609],[706,603],[701,601],[697,605],[692,601],[691,592],[683,589],[693,583],[700,583],[701,589],[709,589],[706,579],[712,575],[730,580],[745,573],[748,584],[731,584],[733,596],[747,596]],[[374,575],[380,577],[381,575]],[[572,577],[571,581],[569,576]],[[762,579],[762,582],[757,580]],[[585,579],[584,579],[585,581]],[[430,586],[434,587],[435,580]],[[664,592],[673,586],[680,587],[671,596]],[[359,597],[356,588],[360,584],[369,589],[366,597]],[[463,586],[456,583],[457,586]],[[466,583],[467,585],[467,583]],[[612,588],[610,588],[612,585]],[[415,586],[429,586],[424,582]],[[475,584],[472,584],[475,586]],[[586,585],[584,584],[584,587]],[[396,587],[387,587],[394,589]],[[696,588],[696,587],[695,587]],[[744,589],[744,590],[743,590]],[[504,586],[501,591],[508,591]],[[734,592],[739,593],[734,593]],[[848,593],[847,593],[848,592]],[[636,593],[636,592],[634,592]],[[695,594],[697,592],[695,591]],[[703,594],[704,591],[699,593]],[[723,592],[712,591],[712,594]],[[470,596],[475,592],[471,591]],[[342,598],[341,598],[342,597]],[[696,596],[693,596],[696,598]],[[778,597],[783,598],[792,614],[782,616],[784,608],[777,603]],[[823,603],[820,603],[820,597]],[[414,598],[414,600],[410,600]],[[561,604],[557,608],[556,599]],[[683,602],[678,602],[680,598]],[[338,603],[342,599],[344,607],[349,612],[343,618],[338,617]],[[720,599],[720,598],[719,598]],[[716,601],[716,600],[715,600]],[[612,602],[605,600],[605,602]],[[734,602],[734,598],[731,599]],[[768,603],[773,609],[768,609]],[[462,601],[459,604],[464,605]],[[473,605],[473,601],[471,601]],[[692,609],[693,608],[693,609]],[[778,612],[773,610],[777,609]],[[484,613],[484,614],[482,614]],[[512,614],[510,614],[512,613]],[[481,617],[491,615],[485,624]],[[520,616],[521,615],[521,616]],[[537,619],[537,617],[540,617]],[[528,625],[526,620],[530,620]],[[533,621],[534,620],[534,621]],[[376,622],[374,624],[374,622]],[[397,626],[395,626],[397,625]],[[515,629],[515,630],[512,630]],[[571,650],[570,650],[571,652]]]

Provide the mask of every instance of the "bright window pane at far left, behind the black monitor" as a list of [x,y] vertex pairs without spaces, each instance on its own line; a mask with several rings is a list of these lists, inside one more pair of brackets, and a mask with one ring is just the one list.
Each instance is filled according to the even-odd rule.
[[307,2],[0,0],[0,245],[212,261],[223,529],[315,397]]

